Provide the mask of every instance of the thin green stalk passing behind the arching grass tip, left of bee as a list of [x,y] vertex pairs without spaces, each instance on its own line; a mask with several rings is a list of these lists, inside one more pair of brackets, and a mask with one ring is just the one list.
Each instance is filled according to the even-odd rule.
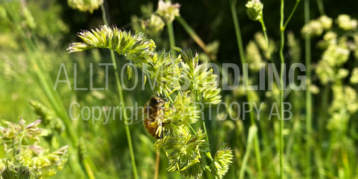
[[[106,20],[106,17],[105,17],[105,9],[104,9],[103,4],[101,4],[101,10],[102,10],[103,22],[104,22],[104,24],[108,24],[107,20]],[[117,84],[117,91],[118,91],[119,100],[120,100],[122,105],[125,105],[125,102],[124,102],[124,99],[123,99],[123,94],[122,94],[122,87],[121,87],[121,84],[119,82],[117,63],[116,63],[116,59],[115,59],[115,56],[114,56],[114,52],[111,50],[110,54],[111,54],[111,60],[112,60],[112,63],[113,63],[114,76],[116,77],[116,84]],[[128,148],[129,148],[129,153],[130,153],[130,160],[131,160],[131,163],[132,163],[133,176],[134,176],[134,179],[137,179],[138,178],[137,168],[135,166],[133,146],[132,146],[132,141],[131,141],[131,138],[130,138],[129,126],[128,126],[128,122],[127,122],[128,117],[127,117],[126,111],[124,111],[124,108],[122,107],[121,109],[122,109],[122,113],[123,113],[125,129],[126,129]]]

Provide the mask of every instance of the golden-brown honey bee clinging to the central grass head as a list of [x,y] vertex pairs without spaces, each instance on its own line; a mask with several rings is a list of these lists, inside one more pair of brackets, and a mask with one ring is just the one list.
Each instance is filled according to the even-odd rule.
[[162,98],[152,97],[144,106],[144,114],[146,115],[146,118],[143,122],[144,127],[147,129],[148,133],[157,139],[163,138],[162,126],[164,126],[166,123],[161,123],[161,121],[165,111],[165,103],[166,102]]

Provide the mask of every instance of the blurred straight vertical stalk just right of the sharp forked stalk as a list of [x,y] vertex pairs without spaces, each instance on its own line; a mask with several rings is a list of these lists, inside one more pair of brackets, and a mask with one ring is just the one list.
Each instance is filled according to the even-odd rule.
[[[309,23],[309,0],[305,0],[305,24]],[[311,40],[308,33],[305,34],[305,51],[306,51],[306,177],[311,178],[311,140],[312,133],[312,95],[310,92],[311,85]]]

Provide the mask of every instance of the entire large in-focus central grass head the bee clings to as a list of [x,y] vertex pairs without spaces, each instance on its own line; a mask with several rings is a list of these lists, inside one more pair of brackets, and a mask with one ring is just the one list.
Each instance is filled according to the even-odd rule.
[[[154,147],[166,151],[169,160],[167,170],[180,171],[183,176],[195,178],[201,177],[205,170],[210,171],[213,162],[208,164],[205,160],[207,156],[212,161],[211,154],[208,153],[210,150],[206,133],[200,128],[190,132],[190,124],[200,118],[200,113],[188,94],[193,91],[197,96],[202,96],[198,100],[200,102],[217,104],[221,101],[220,89],[217,88],[212,69],[209,69],[206,63],[198,64],[198,55],[193,57],[189,50],[181,51],[178,57],[170,52],[156,51],[153,40],[146,39],[143,34],[119,30],[115,26],[101,26],[96,30],[80,32],[78,36],[84,43],[70,44],[70,52],[92,48],[116,51],[155,81],[154,94],[171,100],[166,103],[162,118],[155,121],[159,126],[157,132],[163,133],[164,137],[158,139]],[[185,93],[180,90],[180,81],[190,83]],[[171,94],[176,94],[174,100],[171,99]],[[220,148],[218,153],[214,164],[216,170],[212,172],[217,178],[222,178],[229,169],[232,154],[228,148]]]

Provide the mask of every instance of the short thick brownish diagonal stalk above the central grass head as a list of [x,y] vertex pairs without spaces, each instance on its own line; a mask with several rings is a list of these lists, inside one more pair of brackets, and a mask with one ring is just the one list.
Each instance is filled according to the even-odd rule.
[[190,37],[199,45],[200,48],[210,57],[210,59],[215,60],[216,56],[211,54],[209,49],[206,47],[203,40],[199,37],[199,35],[194,31],[194,29],[189,26],[189,24],[182,18],[181,16],[177,16],[175,18],[180,25],[184,28],[184,30],[190,35]]

